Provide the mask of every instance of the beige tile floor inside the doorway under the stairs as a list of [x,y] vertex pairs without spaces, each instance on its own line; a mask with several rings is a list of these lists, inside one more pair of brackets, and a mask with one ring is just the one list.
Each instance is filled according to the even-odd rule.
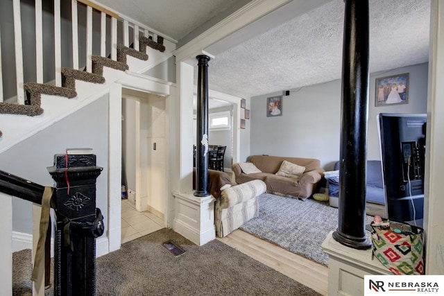
[[121,243],[164,228],[164,221],[148,211],[137,211],[130,200],[122,200],[121,206]]

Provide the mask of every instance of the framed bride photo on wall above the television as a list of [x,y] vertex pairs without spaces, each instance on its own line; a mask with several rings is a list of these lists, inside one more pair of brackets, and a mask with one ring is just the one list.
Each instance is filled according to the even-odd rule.
[[409,73],[376,78],[375,107],[409,103]]

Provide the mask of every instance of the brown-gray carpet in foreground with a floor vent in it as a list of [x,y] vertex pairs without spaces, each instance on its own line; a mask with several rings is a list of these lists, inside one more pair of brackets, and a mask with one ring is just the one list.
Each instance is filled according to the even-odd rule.
[[[161,245],[169,240],[186,252],[173,256]],[[20,267],[17,253],[26,261],[26,252],[28,261]],[[17,253],[14,268],[29,279],[31,251]],[[96,270],[97,295],[319,295],[220,241],[198,247],[170,229],[124,243],[121,250],[99,257]],[[14,271],[14,295],[31,295],[17,277]]]

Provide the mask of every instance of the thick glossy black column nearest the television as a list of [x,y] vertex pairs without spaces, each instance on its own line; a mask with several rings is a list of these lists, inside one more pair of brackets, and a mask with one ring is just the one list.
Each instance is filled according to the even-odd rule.
[[348,247],[364,250],[371,247],[365,232],[368,0],[344,2],[339,225],[333,238]]

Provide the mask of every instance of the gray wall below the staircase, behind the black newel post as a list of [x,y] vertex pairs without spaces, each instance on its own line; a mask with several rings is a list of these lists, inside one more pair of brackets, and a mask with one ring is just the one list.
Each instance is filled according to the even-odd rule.
[[[76,128],[72,128],[76,127]],[[1,170],[43,186],[54,186],[46,167],[69,147],[90,147],[103,167],[96,183],[96,206],[108,225],[108,95],[0,154]],[[31,202],[12,198],[12,230],[32,234]]]

